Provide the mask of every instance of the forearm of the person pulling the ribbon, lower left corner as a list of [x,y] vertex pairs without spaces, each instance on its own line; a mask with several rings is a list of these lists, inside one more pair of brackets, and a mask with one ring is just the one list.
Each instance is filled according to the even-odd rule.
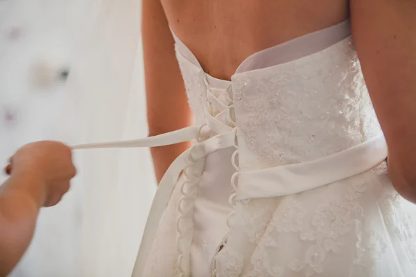
[[44,193],[39,178],[13,175],[0,188],[0,276],[7,276],[28,248]]

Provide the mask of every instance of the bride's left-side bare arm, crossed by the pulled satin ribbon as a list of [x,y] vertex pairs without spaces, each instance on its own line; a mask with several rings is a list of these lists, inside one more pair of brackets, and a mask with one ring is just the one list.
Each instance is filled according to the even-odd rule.
[[[159,0],[143,0],[142,35],[149,135],[191,125],[184,82],[175,58],[174,40]],[[151,149],[159,182],[189,143]]]

